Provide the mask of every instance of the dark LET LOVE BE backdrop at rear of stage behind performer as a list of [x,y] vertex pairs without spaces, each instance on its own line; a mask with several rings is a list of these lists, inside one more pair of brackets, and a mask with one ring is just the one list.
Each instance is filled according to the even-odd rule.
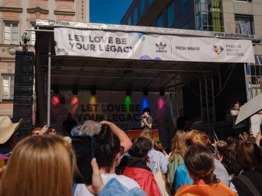
[[[83,124],[85,120],[108,120],[123,130],[141,129],[140,117],[145,107],[151,110],[154,129],[172,127],[169,94],[143,96],[141,92],[132,92],[131,96],[126,96],[125,92],[97,92],[92,96],[88,91],[79,91],[77,96],[73,95],[72,91],[60,91],[59,94],[60,97],[54,95],[51,98],[50,118],[51,125],[56,127],[58,132],[61,131],[69,112],[77,124]],[[59,98],[63,98],[64,102],[59,102]]]

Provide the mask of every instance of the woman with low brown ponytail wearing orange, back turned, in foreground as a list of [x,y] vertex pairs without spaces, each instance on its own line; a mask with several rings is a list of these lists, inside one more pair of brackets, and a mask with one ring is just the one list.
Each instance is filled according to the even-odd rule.
[[201,145],[192,145],[185,153],[185,166],[194,184],[184,184],[177,190],[176,196],[233,196],[236,195],[227,185],[214,175],[214,157]]

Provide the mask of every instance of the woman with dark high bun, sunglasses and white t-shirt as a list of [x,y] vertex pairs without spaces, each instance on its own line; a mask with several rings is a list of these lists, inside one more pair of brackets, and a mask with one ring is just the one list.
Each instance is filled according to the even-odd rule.
[[[116,125],[114,125],[116,126]],[[110,179],[116,179],[125,188],[140,188],[139,184],[125,175],[117,175],[116,167],[121,162],[121,155],[125,151],[125,147],[121,146],[121,141],[112,131],[112,123],[108,121],[101,122],[99,133],[94,134],[94,157],[96,157],[99,171],[101,173],[103,184],[107,184]],[[92,196],[92,193],[85,185],[77,184],[77,191],[74,196]]]

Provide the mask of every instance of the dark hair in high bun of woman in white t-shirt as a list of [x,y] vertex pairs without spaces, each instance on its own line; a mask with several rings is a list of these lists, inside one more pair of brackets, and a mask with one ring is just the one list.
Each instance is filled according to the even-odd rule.
[[120,150],[120,140],[108,124],[102,124],[99,134],[94,135],[94,157],[99,168],[105,167],[105,172],[110,172],[114,157]]

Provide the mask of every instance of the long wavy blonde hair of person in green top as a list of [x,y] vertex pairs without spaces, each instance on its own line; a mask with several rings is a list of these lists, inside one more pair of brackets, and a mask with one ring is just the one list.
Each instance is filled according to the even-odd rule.
[[185,157],[185,151],[187,147],[185,146],[185,131],[179,130],[176,134],[174,134],[174,138],[172,140],[172,154],[171,160],[174,160],[177,155],[181,155],[181,157]]

